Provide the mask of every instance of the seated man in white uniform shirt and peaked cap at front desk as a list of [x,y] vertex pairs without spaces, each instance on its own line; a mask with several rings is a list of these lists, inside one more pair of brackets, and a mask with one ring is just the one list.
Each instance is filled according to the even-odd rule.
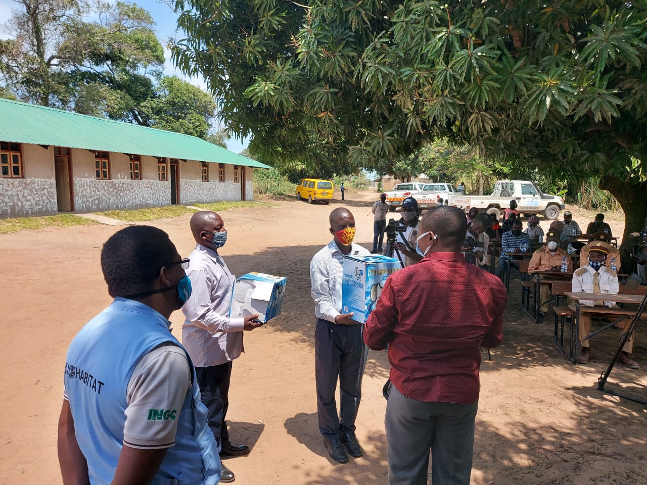
[[[573,281],[571,289],[574,293],[597,293],[600,294],[601,299],[593,301],[580,301],[580,305],[587,305],[589,307],[613,307],[613,301],[604,301],[604,294],[616,295],[618,294],[618,276],[615,272],[609,270],[604,266],[604,259],[608,255],[608,250],[603,246],[602,242],[599,246],[589,248],[589,265],[576,270],[573,273]],[[631,319],[626,318],[616,324],[622,332],[626,332],[631,325]],[[591,315],[587,313],[580,313],[579,321],[579,338],[582,343],[580,348],[580,355],[577,358],[578,363],[589,363],[591,358],[591,344],[589,339],[582,340],[591,333]],[[632,360],[630,355],[633,349],[633,333],[627,343],[622,347],[618,361],[630,369],[638,369],[639,365],[635,360]]]

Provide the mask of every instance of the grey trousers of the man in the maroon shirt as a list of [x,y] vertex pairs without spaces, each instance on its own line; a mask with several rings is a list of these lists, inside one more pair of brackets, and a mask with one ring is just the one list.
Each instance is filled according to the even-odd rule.
[[422,402],[385,387],[389,485],[426,485],[432,450],[432,485],[470,485],[478,402]]

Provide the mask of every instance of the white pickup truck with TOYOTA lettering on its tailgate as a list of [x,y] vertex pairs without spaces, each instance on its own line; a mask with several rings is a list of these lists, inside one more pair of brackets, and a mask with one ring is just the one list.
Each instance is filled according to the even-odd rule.
[[510,207],[510,200],[517,201],[517,210],[521,214],[543,213],[550,221],[560,217],[560,211],[564,210],[562,197],[547,195],[528,180],[498,180],[492,195],[455,195],[450,204],[465,212],[476,207],[488,214],[494,213],[497,219],[501,219],[503,211]]

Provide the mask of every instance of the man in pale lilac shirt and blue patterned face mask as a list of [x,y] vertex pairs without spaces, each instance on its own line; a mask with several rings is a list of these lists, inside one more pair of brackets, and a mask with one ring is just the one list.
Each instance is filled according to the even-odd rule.
[[[243,330],[254,330],[261,323],[258,314],[245,318],[229,316],[236,277],[218,253],[227,240],[223,219],[215,212],[199,211],[191,217],[190,225],[196,244],[189,255],[191,266],[186,274],[193,292],[182,307],[182,343],[195,365],[202,402],[220,455],[236,457],[249,453],[249,447],[230,442],[225,421],[232,361],[243,352]],[[220,481],[228,483],[234,479],[234,473],[223,466]]]

